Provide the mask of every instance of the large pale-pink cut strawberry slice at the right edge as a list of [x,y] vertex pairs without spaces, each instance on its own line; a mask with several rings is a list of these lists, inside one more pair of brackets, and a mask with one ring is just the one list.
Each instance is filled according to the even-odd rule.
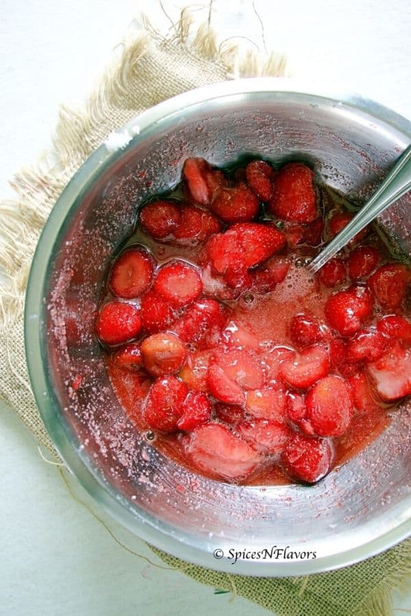
[[379,396],[386,402],[411,394],[411,350],[397,341],[366,367]]

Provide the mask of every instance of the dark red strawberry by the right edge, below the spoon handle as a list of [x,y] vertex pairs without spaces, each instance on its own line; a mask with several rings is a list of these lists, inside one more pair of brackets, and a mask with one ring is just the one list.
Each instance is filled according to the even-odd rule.
[[378,268],[368,284],[382,307],[393,310],[401,305],[410,282],[411,272],[407,266],[390,263]]

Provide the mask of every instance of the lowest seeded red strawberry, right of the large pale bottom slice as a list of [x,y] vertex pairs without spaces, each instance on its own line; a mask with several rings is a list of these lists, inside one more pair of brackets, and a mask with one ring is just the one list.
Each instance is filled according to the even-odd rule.
[[310,439],[299,434],[292,436],[282,453],[286,473],[304,483],[316,483],[329,472],[332,448],[325,439]]

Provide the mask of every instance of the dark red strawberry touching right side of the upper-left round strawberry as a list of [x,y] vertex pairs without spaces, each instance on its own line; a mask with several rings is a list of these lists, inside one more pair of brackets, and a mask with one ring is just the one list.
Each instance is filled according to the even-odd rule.
[[173,232],[173,240],[175,244],[194,246],[220,231],[221,222],[210,211],[186,205],[182,207],[179,225]]

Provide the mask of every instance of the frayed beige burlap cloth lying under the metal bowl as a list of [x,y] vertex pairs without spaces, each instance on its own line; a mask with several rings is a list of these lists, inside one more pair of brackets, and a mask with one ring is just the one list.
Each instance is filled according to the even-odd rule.
[[[190,44],[188,44],[190,38]],[[175,94],[234,76],[284,75],[284,60],[260,62],[227,42],[217,49],[206,26],[190,33],[187,13],[175,36],[164,40],[149,29],[123,42],[83,110],[60,112],[52,153],[14,178],[16,200],[0,204],[0,396],[36,439],[53,451],[29,386],[23,342],[23,305],[29,267],[42,226],[73,173],[108,133],[151,105]],[[5,238],[5,239],[4,239]],[[306,578],[246,578],[182,563],[159,550],[173,567],[219,589],[233,591],[284,616],[356,616],[392,613],[391,589],[410,583],[411,541],[338,572]]]

